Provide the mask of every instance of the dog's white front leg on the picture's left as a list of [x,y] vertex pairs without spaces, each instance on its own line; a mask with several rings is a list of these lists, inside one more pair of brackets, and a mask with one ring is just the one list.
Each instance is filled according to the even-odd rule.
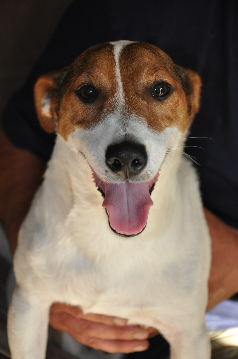
[[8,312],[11,359],[44,359],[48,334],[49,303],[14,290]]

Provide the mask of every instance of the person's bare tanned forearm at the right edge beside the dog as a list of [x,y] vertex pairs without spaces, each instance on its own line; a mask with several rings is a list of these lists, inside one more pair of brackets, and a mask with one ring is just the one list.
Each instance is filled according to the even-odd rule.
[[204,209],[211,236],[212,264],[207,310],[238,292],[238,230]]

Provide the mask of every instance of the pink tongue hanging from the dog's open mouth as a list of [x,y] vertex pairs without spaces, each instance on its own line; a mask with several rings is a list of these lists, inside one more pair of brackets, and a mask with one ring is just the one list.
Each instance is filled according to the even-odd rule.
[[108,210],[109,222],[116,232],[137,234],[146,227],[153,201],[149,183],[105,184],[103,207]]

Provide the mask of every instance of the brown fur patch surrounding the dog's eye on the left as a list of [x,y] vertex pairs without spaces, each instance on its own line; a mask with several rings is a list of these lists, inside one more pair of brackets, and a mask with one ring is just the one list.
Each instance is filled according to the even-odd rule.
[[[98,97],[84,103],[76,91],[83,84],[92,84]],[[101,116],[110,106],[116,90],[115,59],[113,46],[100,44],[83,52],[71,65],[64,84],[61,99],[58,133],[67,139],[76,127],[90,129],[101,121]]]

